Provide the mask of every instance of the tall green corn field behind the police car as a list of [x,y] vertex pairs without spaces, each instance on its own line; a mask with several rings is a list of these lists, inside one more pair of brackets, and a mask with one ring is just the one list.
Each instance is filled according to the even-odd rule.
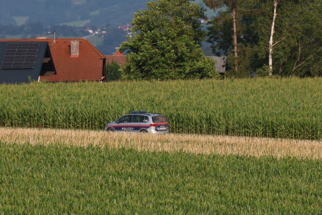
[[321,92],[321,78],[1,85],[0,126],[101,130],[147,110],[174,133],[321,140]]

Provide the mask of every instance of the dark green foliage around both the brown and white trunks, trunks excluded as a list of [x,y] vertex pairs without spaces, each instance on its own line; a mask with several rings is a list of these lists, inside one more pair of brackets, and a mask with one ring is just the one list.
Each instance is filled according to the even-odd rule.
[[[204,0],[213,2],[230,2]],[[237,1],[236,1],[237,2]],[[276,2],[276,0],[275,0]],[[280,76],[322,76],[322,7],[321,0],[277,0],[273,40],[273,74]],[[217,8],[214,5],[214,8]],[[208,23],[208,41],[216,55],[227,54],[234,65],[232,10],[221,11]],[[241,9],[242,8],[244,9]],[[269,40],[274,0],[243,1],[236,8],[239,71],[247,77],[265,70],[269,62]],[[253,11],[253,12],[249,12]],[[269,74],[269,73],[267,73]]]

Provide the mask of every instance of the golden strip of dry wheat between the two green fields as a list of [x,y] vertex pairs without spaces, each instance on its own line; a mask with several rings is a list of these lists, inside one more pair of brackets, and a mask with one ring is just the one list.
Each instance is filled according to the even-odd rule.
[[322,159],[322,142],[318,140],[274,139],[197,134],[151,135],[111,133],[93,130],[48,128],[0,128],[0,142],[65,146],[99,146],[138,151],[183,151],[193,154],[239,155],[251,157]]

